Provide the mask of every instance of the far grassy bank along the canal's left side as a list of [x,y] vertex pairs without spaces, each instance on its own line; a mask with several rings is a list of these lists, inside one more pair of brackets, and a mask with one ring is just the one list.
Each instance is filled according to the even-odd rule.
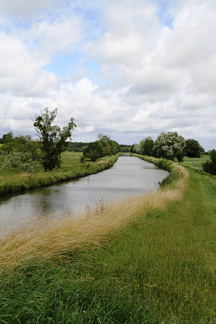
[[[118,159],[117,155],[106,156],[95,163],[80,163],[80,153],[65,152],[62,154],[60,169],[45,173],[40,168],[33,174],[14,175],[11,172],[0,172],[0,194],[46,186],[68,179],[85,177],[109,169]],[[1,162],[1,159],[0,159]],[[3,163],[3,158],[2,158]],[[1,168],[1,165],[0,165]]]

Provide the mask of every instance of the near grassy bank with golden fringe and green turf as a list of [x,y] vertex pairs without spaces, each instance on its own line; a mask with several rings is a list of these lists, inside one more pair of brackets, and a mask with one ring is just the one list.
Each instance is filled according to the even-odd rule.
[[150,195],[11,233],[0,249],[0,320],[215,323],[215,186],[167,168],[178,177]]

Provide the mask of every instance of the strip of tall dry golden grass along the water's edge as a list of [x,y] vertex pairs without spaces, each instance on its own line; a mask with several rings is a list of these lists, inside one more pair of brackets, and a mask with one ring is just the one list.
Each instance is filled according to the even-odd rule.
[[103,244],[122,226],[140,215],[145,217],[150,208],[163,209],[170,201],[180,200],[185,192],[188,173],[179,165],[174,164],[173,169],[179,170],[181,177],[171,186],[142,196],[113,201],[103,212],[91,216],[71,216],[65,210],[61,213],[63,215],[56,213],[44,218],[37,215],[20,224],[7,237],[6,229],[2,229],[0,271],[12,269],[28,259],[49,259],[73,253],[91,244]]

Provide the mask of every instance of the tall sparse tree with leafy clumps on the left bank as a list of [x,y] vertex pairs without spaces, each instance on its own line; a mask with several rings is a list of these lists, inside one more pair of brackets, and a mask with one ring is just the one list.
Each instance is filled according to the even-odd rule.
[[38,159],[46,172],[60,166],[61,153],[68,145],[66,140],[71,137],[71,132],[76,127],[72,117],[68,126],[63,127],[62,130],[57,125],[52,126],[57,111],[57,108],[51,112],[49,108],[44,108],[44,112],[41,110],[40,114],[35,115],[35,119],[32,119],[39,138],[40,154]]

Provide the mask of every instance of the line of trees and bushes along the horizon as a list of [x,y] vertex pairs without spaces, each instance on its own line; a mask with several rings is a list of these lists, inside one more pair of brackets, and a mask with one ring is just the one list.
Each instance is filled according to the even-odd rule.
[[[15,173],[32,172],[34,164],[41,165],[46,172],[58,168],[61,163],[61,154],[66,149],[82,151],[84,158],[96,161],[99,157],[114,155],[118,152],[132,152],[142,155],[155,156],[182,162],[184,156],[200,157],[205,154],[203,147],[194,139],[185,140],[177,132],[162,132],[155,141],[151,137],[142,139],[138,144],[119,145],[110,136],[98,134],[97,140],[90,143],[71,143],[72,131],[76,127],[71,117],[67,126],[62,129],[53,125],[57,115],[57,108],[49,111],[48,108],[40,110],[38,115],[31,118],[36,131],[37,140],[30,135],[14,137],[12,132],[4,134],[0,143],[2,150],[8,152],[3,169]],[[205,172],[216,174],[216,151],[209,152],[210,160],[203,165]]]

